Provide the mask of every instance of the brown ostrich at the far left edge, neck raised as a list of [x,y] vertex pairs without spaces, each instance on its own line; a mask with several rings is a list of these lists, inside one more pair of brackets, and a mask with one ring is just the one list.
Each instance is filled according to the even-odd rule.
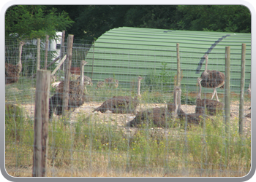
[[25,42],[20,41],[17,65],[5,63],[5,84],[13,84],[15,82],[18,82],[20,72],[22,70],[21,52],[23,45],[25,45]]

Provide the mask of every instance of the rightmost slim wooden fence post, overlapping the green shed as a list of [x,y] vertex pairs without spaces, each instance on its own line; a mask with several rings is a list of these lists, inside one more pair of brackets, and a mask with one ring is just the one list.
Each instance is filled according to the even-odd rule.
[[241,84],[240,84],[240,105],[239,105],[239,134],[243,135],[244,130],[244,78],[245,78],[245,54],[246,44],[242,44],[241,52]]

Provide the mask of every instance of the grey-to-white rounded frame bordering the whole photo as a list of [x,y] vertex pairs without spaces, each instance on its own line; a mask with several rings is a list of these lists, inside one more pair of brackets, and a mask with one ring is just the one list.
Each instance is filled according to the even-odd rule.
[[[178,3],[178,4],[177,4]],[[181,1],[167,1],[167,0],[158,0],[158,1],[143,1],[143,0],[131,0],[131,1],[116,1],[116,0],[108,0],[108,1],[102,1],[102,0],[95,0],[95,1],[78,1],[78,0],[73,0],[73,1],[49,1],[49,0],[45,0],[45,1],[31,1],[31,0],[23,0],[23,1],[17,1],[17,0],[12,0],[12,1],[7,1],[3,7],[1,7],[1,34],[2,36],[0,37],[1,39],[1,57],[2,60],[4,60],[4,15],[6,10],[11,7],[12,5],[75,5],[75,4],[80,4],[80,5],[90,5],[90,4],[102,4],[102,5],[109,5],[109,4],[116,4],[116,5],[244,5],[245,7],[247,7],[250,12],[251,12],[251,17],[252,17],[252,60],[255,60],[256,55],[254,50],[254,46],[255,46],[255,7],[253,7],[253,5],[251,3],[249,3],[248,1],[241,1],[241,0],[215,0],[215,1],[211,1],[211,4],[206,3],[206,1],[202,1],[202,0],[194,0],[194,1],[189,1],[189,0],[181,0]],[[256,62],[255,62],[256,63]],[[255,66],[254,61],[252,61],[252,67],[251,69],[256,70],[256,66]],[[10,175],[7,174],[6,170],[5,170],[5,160],[4,160],[4,106],[5,106],[5,84],[4,84],[4,61],[1,61],[1,73],[3,74],[3,77],[0,79],[0,83],[3,86],[3,89],[1,89],[1,95],[0,95],[0,100],[3,100],[3,102],[1,102],[1,113],[0,116],[2,117],[2,122],[1,122],[1,139],[0,139],[0,144],[1,144],[1,151],[0,151],[0,164],[1,164],[1,174],[4,176],[5,179],[7,179],[8,181],[45,181],[45,180],[49,180],[52,181],[54,179],[54,181],[70,181],[70,180],[79,180],[79,181],[131,181],[133,179],[131,178],[89,178],[89,177],[69,177],[69,178],[61,178],[61,177],[45,177],[45,178],[31,178],[31,177],[12,177]],[[252,96],[251,96],[251,106],[252,106],[252,119],[253,119],[253,111],[255,110],[254,108],[256,108],[255,103],[254,103],[254,99],[256,98],[256,95],[253,95],[253,90],[256,88],[255,87],[255,80],[253,79],[255,77],[256,73],[254,73],[253,71],[251,72],[251,90],[252,90]],[[252,121],[252,128],[251,130],[255,130],[255,125],[254,122]],[[252,154],[253,151],[255,151],[255,134],[253,134],[252,132]],[[251,171],[244,177],[180,177],[180,178],[161,178],[161,181],[170,181],[170,180],[175,180],[175,181],[216,181],[216,180],[222,180],[222,181],[249,181],[249,179],[251,179],[254,175],[255,175],[255,171],[256,171],[256,167],[255,167],[255,157],[252,155],[252,168]],[[32,172],[31,172],[32,173]],[[156,178],[139,178],[140,181],[155,181],[157,180]]]

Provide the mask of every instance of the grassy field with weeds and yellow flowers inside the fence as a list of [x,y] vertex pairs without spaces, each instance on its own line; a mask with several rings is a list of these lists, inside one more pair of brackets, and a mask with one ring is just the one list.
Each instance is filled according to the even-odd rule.
[[[31,176],[34,119],[22,105],[33,104],[35,82],[21,78],[5,89],[6,103],[15,103],[13,108],[6,108],[5,167],[12,176]],[[88,103],[136,92],[96,91],[95,85],[87,90]],[[165,103],[172,100],[173,94],[144,90],[142,95],[144,103]],[[238,100],[238,96],[232,98]],[[192,93],[183,95],[183,103],[187,100],[195,102]],[[231,122],[230,135],[225,133],[223,116],[214,116],[213,122],[206,120],[202,127],[190,126],[187,130],[180,122],[172,128],[125,128],[113,118],[102,120],[97,114],[80,112],[70,124],[54,117],[48,130],[47,175],[240,177],[249,173],[251,135],[238,134],[238,118]]]

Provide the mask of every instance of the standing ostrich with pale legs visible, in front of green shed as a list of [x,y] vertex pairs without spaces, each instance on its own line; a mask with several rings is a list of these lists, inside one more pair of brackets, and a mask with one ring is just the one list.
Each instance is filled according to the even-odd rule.
[[221,89],[224,88],[225,74],[216,70],[207,70],[208,55],[204,55],[203,57],[206,58],[206,68],[205,71],[203,71],[203,73],[201,74],[201,84],[203,87],[214,89],[211,100],[214,98],[214,95],[216,95],[217,101],[219,102],[216,89],[219,87]]

